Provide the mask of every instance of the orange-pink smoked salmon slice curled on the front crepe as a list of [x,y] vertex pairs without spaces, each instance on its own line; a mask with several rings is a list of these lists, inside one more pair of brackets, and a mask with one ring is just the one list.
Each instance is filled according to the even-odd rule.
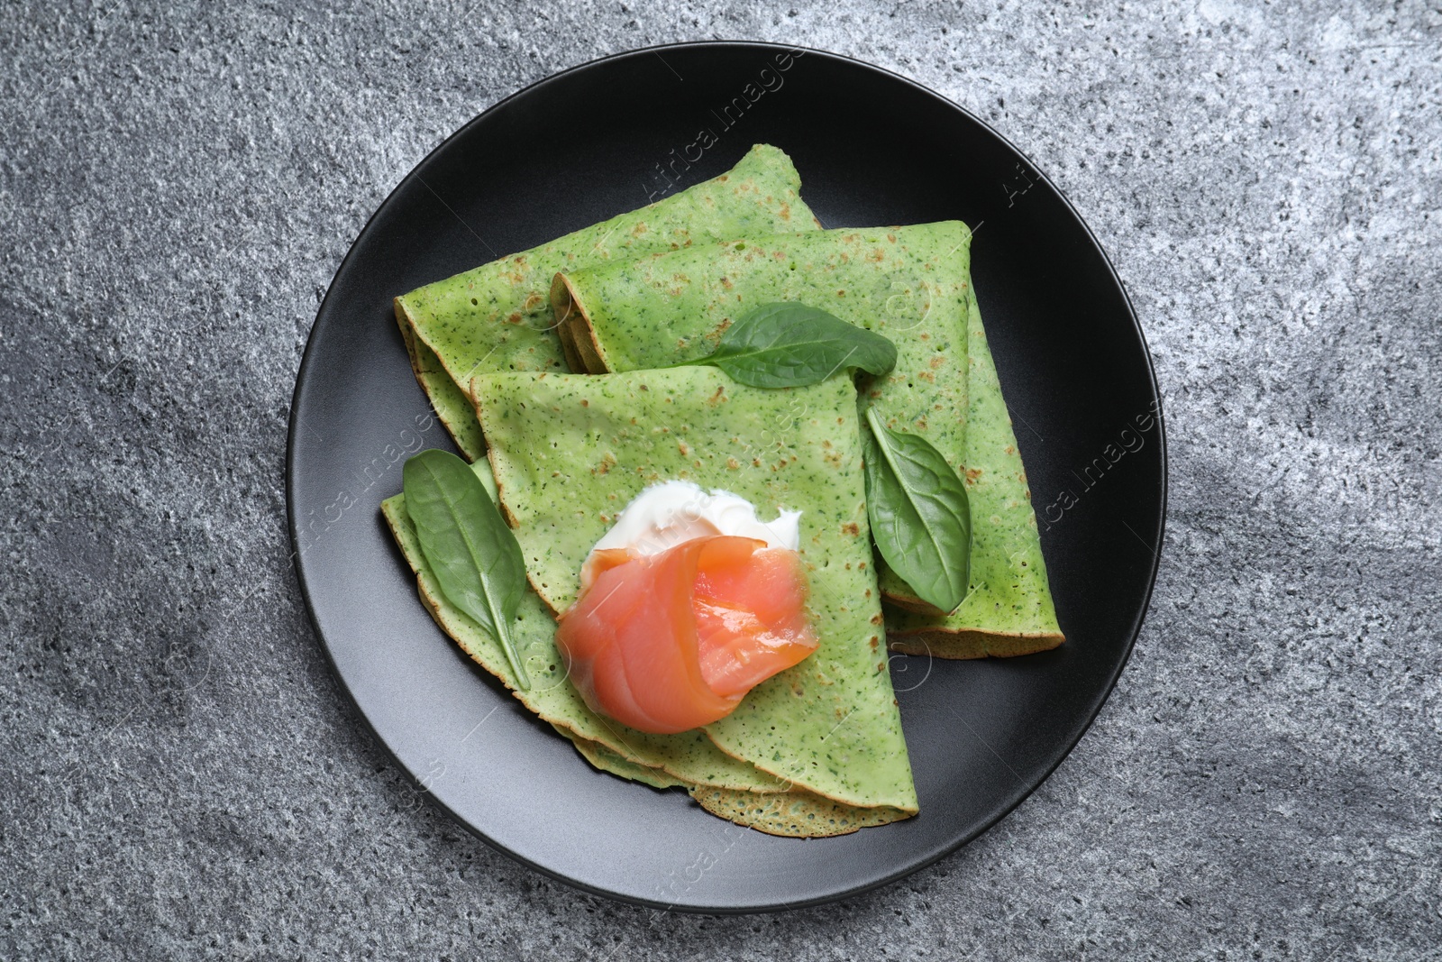
[[594,711],[656,734],[731,714],[746,692],[816,650],[806,575],[787,548],[731,535],[655,555],[593,552],[557,648]]

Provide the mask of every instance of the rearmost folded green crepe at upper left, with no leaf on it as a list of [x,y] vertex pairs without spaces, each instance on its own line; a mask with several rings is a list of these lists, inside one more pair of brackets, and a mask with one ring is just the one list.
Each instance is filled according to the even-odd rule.
[[[815,226],[790,157],[757,144],[720,177],[397,297],[395,319],[417,381],[456,446],[474,460],[485,441],[464,392],[473,375],[567,369],[547,303],[557,271]],[[570,368],[581,365],[572,358]]]

